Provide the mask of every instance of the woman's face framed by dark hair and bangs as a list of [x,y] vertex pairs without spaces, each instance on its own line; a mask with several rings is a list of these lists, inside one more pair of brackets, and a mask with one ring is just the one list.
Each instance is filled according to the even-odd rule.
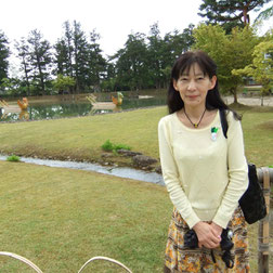
[[197,63],[173,80],[174,89],[180,93],[185,106],[204,106],[208,90],[216,86],[217,77],[211,79],[202,72]]

